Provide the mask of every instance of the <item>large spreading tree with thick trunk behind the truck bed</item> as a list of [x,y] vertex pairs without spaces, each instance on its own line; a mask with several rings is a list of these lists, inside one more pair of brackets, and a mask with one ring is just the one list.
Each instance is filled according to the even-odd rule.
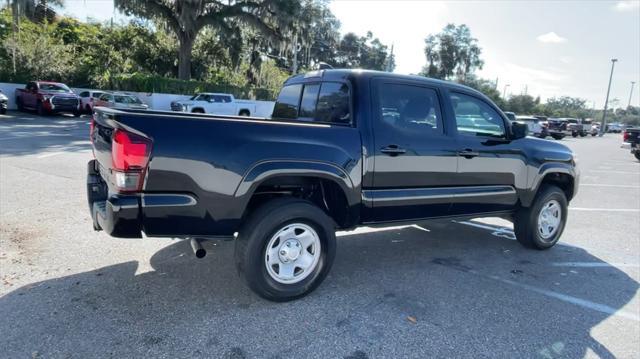
[[277,39],[290,22],[288,14],[299,6],[287,0],[115,0],[127,15],[156,20],[172,31],[179,42],[178,77],[191,78],[193,44],[204,27],[238,36],[239,23],[250,25],[262,35]]

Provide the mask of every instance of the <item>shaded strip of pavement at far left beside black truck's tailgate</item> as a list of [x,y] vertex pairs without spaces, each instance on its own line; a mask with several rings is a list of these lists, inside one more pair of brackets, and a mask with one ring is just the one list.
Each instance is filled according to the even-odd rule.
[[0,115],[0,154],[23,156],[51,151],[89,151],[89,120],[86,115],[78,118],[21,112]]

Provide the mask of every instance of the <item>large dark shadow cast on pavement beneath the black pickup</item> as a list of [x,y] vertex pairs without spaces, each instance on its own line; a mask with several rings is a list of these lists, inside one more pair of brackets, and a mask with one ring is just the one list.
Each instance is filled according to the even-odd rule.
[[33,283],[0,298],[2,356],[610,358],[591,337],[605,319],[637,340],[638,283],[587,251],[428,228],[339,237],[326,281],[289,303],[244,286],[232,242]]

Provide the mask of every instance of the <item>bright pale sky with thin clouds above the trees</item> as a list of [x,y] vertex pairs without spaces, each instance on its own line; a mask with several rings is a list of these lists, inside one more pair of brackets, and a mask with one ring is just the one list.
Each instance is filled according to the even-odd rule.
[[[80,20],[126,17],[112,0],[66,0],[63,13]],[[364,1],[334,0],[341,32],[372,31],[394,47],[396,69],[418,73],[426,63],[424,38],[448,23],[466,24],[482,48],[480,77],[507,95],[543,100],[573,96],[604,107],[611,59],[617,58],[610,99],[640,105],[640,0],[631,1]],[[508,85],[508,86],[506,86]]]

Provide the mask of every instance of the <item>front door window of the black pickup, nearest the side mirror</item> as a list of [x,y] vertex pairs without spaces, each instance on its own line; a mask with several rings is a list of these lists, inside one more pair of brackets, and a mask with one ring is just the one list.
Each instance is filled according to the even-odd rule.
[[502,117],[486,102],[460,93],[451,94],[458,133],[471,136],[504,137]]

